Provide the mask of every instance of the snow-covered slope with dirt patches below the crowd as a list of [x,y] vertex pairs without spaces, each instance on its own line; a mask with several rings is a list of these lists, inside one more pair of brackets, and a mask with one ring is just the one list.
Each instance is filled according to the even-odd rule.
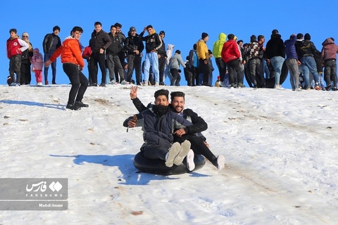
[[[215,155],[191,174],[138,173],[130,86],[0,86],[1,178],[68,178],[68,210],[1,211],[0,224],[337,224],[338,91],[165,87],[208,123]],[[151,86],[139,98],[154,101]]]

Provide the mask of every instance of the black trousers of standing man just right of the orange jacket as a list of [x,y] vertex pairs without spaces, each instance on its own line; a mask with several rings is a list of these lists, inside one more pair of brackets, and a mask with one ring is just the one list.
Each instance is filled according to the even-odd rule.
[[105,63],[105,54],[104,53],[92,53],[90,56],[89,67],[90,67],[90,76],[92,76],[92,84],[97,84],[97,63],[99,63],[99,68],[102,73],[101,83],[106,84],[106,63]]

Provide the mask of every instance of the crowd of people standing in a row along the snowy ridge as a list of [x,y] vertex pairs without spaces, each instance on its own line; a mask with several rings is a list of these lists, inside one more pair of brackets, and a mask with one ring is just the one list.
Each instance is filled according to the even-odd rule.
[[[245,87],[244,77],[246,77],[249,86],[253,88],[268,87],[265,84],[266,79],[274,79],[273,88],[280,89],[282,67],[286,65],[294,91],[311,89],[310,74],[313,75],[313,89],[337,90],[338,47],[332,37],[325,39],[322,51],[318,51],[311,41],[310,34],[292,34],[289,39],[283,41],[278,30],[273,30],[270,40],[264,47],[263,35],[258,37],[251,35],[249,43],[244,44],[244,41],[238,40],[234,34],[220,33],[211,51],[207,46],[208,34],[203,32],[201,39],[196,41],[184,61],[181,51],[173,50],[173,44],[165,46],[163,30],[157,33],[153,26],[148,25],[137,34],[136,28],[130,27],[125,36],[121,28],[120,23],[115,23],[111,25],[110,32],[105,32],[101,23],[96,22],[88,46],[84,48],[80,44],[82,57],[88,63],[89,86],[104,87],[106,84],[131,83],[161,86],[165,85],[166,77],[169,77],[171,86],[180,86],[182,73],[180,67],[184,69],[184,78],[188,86],[213,86],[214,68],[211,58],[215,57],[219,75],[215,86],[242,88]],[[61,39],[58,37],[60,31],[61,28],[55,26],[53,32],[44,37],[42,43],[44,62],[48,61],[61,46]],[[145,32],[148,35],[145,35]],[[37,84],[42,84],[41,62],[32,60],[37,58],[33,57],[33,53],[39,49],[33,49],[27,32],[23,33],[22,39],[15,29],[11,29],[10,34],[7,53],[10,59],[8,79],[11,80],[11,85],[30,84],[32,63],[35,63],[32,70],[35,72]],[[101,72],[100,82],[98,69]],[[48,67],[44,67],[46,85],[49,84],[48,72]],[[51,63],[51,72],[51,84],[56,84],[56,61]],[[299,77],[303,82],[299,82]]]

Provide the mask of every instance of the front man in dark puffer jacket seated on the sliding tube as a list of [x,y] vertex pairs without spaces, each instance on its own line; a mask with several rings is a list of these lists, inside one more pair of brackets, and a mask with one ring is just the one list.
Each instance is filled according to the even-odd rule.
[[186,140],[182,143],[173,143],[173,131],[192,123],[174,113],[168,106],[168,90],[158,90],[154,96],[155,105],[134,117],[127,118],[123,126],[142,126],[144,144],[141,151],[145,158],[163,160],[166,167],[173,167],[181,165],[187,156],[187,168],[194,169],[194,152],[190,150],[190,142]]

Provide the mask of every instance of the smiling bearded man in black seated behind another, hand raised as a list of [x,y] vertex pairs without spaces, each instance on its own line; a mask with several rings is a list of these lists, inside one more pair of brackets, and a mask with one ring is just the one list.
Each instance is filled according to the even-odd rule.
[[[174,91],[170,94],[171,97],[171,108],[173,112],[184,117],[188,121],[192,122],[192,125],[184,127],[175,131],[174,142],[182,143],[185,140],[188,140],[191,143],[191,148],[195,154],[204,155],[215,167],[219,170],[224,168],[225,158],[223,155],[218,155],[216,157],[213,155],[211,150],[208,148],[208,143],[206,143],[206,138],[201,134],[202,131],[208,129],[208,124],[203,120],[202,117],[199,117],[192,109],[184,109],[184,96],[185,94],[182,91]],[[137,108],[139,112],[142,112],[149,108],[149,105],[146,107],[143,103],[137,98],[137,86],[132,86],[130,91],[130,98],[132,103]]]

